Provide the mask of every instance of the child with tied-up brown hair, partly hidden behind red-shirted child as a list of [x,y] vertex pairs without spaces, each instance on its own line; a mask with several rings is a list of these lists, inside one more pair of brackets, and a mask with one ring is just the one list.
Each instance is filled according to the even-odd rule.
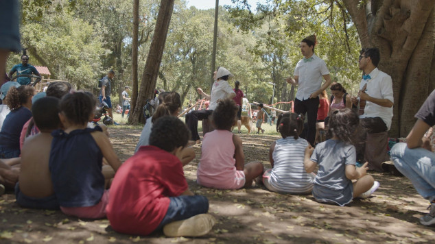
[[[151,118],[147,119],[147,123],[145,123],[145,126],[143,127],[141,136],[139,138],[139,143],[137,143],[134,153],[139,150],[139,147],[150,145],[150,134],[154,121],[163,116],[177,117],[178,113],[182,109],[180,95],[176,92],[163,92],[158,96],[158,99],[159,103],[156,112],[152,114]],[[183,163],[183,166],[195,158],[195,150],[193,150],[191,147],[183,148],[182,153],[183,156],[181,158],[181,162]]]

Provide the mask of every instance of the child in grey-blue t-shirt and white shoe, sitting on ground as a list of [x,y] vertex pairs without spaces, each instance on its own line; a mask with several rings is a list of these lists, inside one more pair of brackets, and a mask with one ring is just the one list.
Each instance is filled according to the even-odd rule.
[[313,187],[316,201],[344,206],[355,197],[368,197],[379,187],[379,182],[366,175],[368,162],[355,167],[356,150],[351,143],[359,125],[358,115],[349,108],[336,110],[329,118],[327,136],[331,139],[316,145],[314,152],[310,145],[305,149],[305,170],[311,173],[319,166]]

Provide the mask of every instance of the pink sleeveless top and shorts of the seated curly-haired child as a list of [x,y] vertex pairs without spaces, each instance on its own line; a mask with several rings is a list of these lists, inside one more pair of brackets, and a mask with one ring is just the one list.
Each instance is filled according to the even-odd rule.
[[233,133],[214,130],[205,134],[197,182],[202,186],[233,189],[244,186],[244,173],[235,169]]

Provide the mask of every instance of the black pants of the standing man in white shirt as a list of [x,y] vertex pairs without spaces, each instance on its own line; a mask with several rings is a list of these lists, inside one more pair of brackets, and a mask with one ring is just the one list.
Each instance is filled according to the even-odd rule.
[[301,137],[307,140],[311,146],[314,146],[314,140],[316,139],[316,121],[317,110],[320,104],[319,97],[309,98],[303,101],[294,99],[294,112],[296,114],[307,114],[307,127],[304,128],[305,134],[301,134]]

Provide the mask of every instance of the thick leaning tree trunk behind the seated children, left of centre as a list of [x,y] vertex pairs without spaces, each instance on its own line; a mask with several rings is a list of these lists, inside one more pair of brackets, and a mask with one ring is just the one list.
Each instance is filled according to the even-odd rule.
[[161,1],[160,8],[158,9],[156,28],[154,29],[154,36],[150,46],[150,53],[148,53],[145,69],[143,69],[141,93],[138,95],[133,114],[130,116],[130,123],[137,124],[139,121],[144,121],[141,108],[145,106],[146,99],[152,98],[154,95],[158,69],[161,64],[163,49],[165,49],[169,23],[171,22],[172,10],[174,10],[174,0]]

